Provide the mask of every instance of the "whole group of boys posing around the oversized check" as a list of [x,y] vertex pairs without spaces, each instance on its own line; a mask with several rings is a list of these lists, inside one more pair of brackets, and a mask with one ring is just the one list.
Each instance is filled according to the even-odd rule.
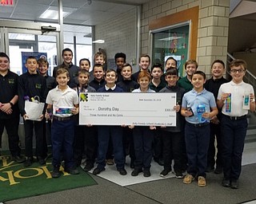
[[[105,70],[104,54],[96,53],[91,72],[88,59],[79,62],[80,69],[72,64],[73,53],[70,49],[63,49],[62,57],[63,64],[54,69],[54,77],[58,82],[56,84],[54,77],[47,74],[46,61],[28,57],[28,72],[18,77],[10,72],[9,57],[5,53],[0,55],[0,77],[8,78],[7,84],[1,84],[6,92],[0,95],[0,133],[6,127],[14,160],[20,163],[25,161],[18,147],[18,121],[13,120],[18,118],[19,108],[25,127],[26,167],[34,162],[33,130],[38,163],[45,163],[45,120],[51,121],[54,178],[61,175],[59,168],[62,156],[65,171],[70,174],[79,173],[77,167],[82,162],[86,145],[84,170],[90,171],[97,158],[98,165],[93,171],[94,175],[105,171],[106,161],[113,159],[113,155],[120,175],[126,175],[125,158],[130,155],[130,167],[134,168],[131,175],[137,176],[143,172],[145,177],[149,177],[150,163],[154,157],[164,167],[160,173],[162,177],[172,171],[174,159],[177,178],[183,178],[182,173],[187,170],[183,179],[186,184],[197,178],[198,186],[206,186],[206,172],[214,170],[216,174],[220,174],[223,169],[222,185],[238,188],[247,127],[246,114],[248,109],[255,110],[254,90],[242,80],[246,72],[245,61],[235,60],[231,63],[232,80],[227,82],[222,77],[225,65],[219,60],[214,61],[211,67],[213,77],[206,80],[205,73],[197,71],[198,63],[194,60],[186,61],[186,77],[179,79],[177,61],[173,57],[166,60],[164,70],[161,64],[153,65],[150,70],[150,57],[142,55],[139,59],[140,69],[134,74],[132,66],[126,63],[124,53],[115,55],[116,70]],[[1,80],[1,83],[6,83],[5,81]],[[79,126],[74,115],[78,115],[80,92],[175,92],[177,104],[173,108],[177,114],[177,126]],[[245,92],[248,92],[249,105],[242,109]],[[26,96],[38,96],[41,102],[46,102],[47,111],[42,112],[40,121],[28,120],[24,108]],[[227,105],[231,108],[227,109]],[[54,114],[60,107],[74,108],[68,115]],[[218,143],[216,167],[215,135]]]

